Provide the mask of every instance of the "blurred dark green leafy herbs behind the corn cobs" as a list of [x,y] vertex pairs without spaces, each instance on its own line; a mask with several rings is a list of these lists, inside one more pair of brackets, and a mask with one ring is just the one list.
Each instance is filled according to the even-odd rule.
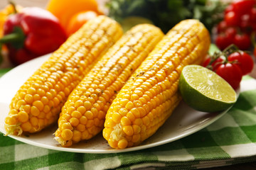
[[225,5],[220,0],[110,0],[107,8],[108,16],[116,21],[141,16],[166,33],[187,18],[200,20],[211,31],[215,23],[222,20]]

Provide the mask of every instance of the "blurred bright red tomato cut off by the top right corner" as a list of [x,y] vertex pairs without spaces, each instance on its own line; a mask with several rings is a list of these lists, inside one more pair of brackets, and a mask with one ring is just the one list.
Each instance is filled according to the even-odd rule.
[[255,0],[237,0],[233,2],[233,11],[239,14],[245,14],[256,4]]

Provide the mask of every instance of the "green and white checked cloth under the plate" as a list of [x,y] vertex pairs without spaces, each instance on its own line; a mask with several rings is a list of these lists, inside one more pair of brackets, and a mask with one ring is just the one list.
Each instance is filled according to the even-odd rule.
[[202,169],[256,160],[256,80],[244,77],[235,106],[199,132],[117,154],[59,152],[0,135],[0,169]]

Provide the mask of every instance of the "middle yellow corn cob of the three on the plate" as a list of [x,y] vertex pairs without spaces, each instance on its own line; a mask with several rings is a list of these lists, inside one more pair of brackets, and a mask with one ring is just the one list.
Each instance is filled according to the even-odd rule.
[[[63,106],[61,113],[70,114],[70,103],[75,103],[75,111],[84,116],[83,118],[81,117],[80,124],[74,125],[71,123],[73,125],[73,133],[75,130],[86,132],[82,137],[74,138],[73,142],[89,140],[102,131],[105,115],[110,103],[117,95],[117,91],[122,88],[124,82],[129,79],[132,72],[139,67],[139,64],[142,63],[163,36],[164,34],[161,30],[155,26],[148,24],[135,26],[107,51],[78,84],[77,88],[68,97],[68,101]],[[127,106],[127,108],[118,109],[119,112],[115,113],[116,116],[114,118],[107,121],[107,125],[112,127],[112,125],[121,120],[123,115],[129,112],[129,108],[132,108],[132,106],[128,102],[129,99],[127,98],[120,101],[120,106]],[[73,113],[70,115],[73,117],[70,120],[76,118]],[[60,116],[59,120],[64,119]],[[124,125],[127,125],[127,133],[131,134],[133,130],[129,118],[122,118],[121,121]],[[63,130],[62,125],[60,123],[58,125],[58,130]],[[55,134],[55,140],[64,147],[67,142],[70,142],[70,140],[65,140],[57,133]],[[120,142],[119,146],[125,147],[127,142]]]

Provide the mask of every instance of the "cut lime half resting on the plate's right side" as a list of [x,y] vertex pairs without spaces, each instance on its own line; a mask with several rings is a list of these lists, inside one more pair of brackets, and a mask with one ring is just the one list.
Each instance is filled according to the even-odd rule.
[[197,111],[224,111],[237,100],[237,94],[227,81],[199,65],[183,68],[178,88],[183,101]]

